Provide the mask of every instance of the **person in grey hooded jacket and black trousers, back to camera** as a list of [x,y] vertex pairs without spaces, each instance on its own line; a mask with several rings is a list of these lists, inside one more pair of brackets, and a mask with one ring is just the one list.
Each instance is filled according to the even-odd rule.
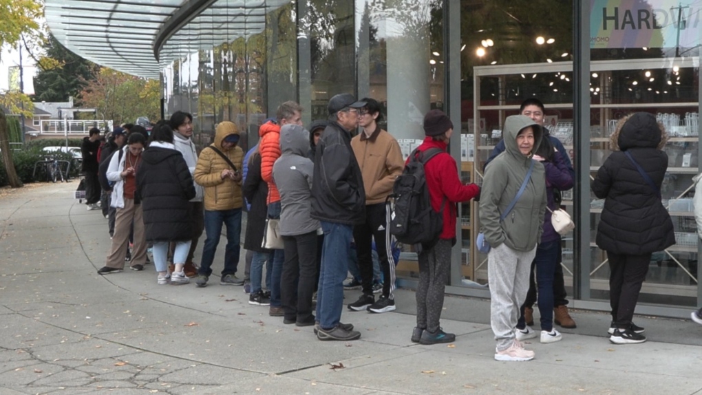
[[280,193],[280,234],[285,262],[280,282],[284,323],[314,325],[312,293],[317,279],[317,229],[310,216],[314,163],[307,158],[310,133],[287,124],[280,129],[281,156],[273,165],[273,180]]

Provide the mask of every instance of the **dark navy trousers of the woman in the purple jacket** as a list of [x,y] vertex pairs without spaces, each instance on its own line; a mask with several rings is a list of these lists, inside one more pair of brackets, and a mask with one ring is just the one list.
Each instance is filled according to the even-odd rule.
[[[541,330],[553,329],[553,278],[555,276],[556,267],[559,264],[560,241],[547,241],[536,247],[536,256],[534,262],[531,262],[531,268],[536,266],[536,284],[538,288],[538,312],[541,315]],[[524,329],[527,326],[524,321],[524,305],[519,314],[517,328]]]

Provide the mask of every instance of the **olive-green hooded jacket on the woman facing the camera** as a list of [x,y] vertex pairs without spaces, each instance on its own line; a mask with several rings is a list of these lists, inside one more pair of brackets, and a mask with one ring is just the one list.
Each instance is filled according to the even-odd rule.
[[[538,147],[543,128],[528,116],[508,116],[504,130],[506,149],[485,168],[479,216],[485,239],[493,248],[505,243],[512,250],[527,252],[541,242],[547,203],[545,170],[541,162],[531,159],[532,154],[524,156],[517,146],[517,135],[529,126],[534,130],[534,147]],[[502,213],[517,196],[532,162],[534,169],[524,193],[501,221]]]

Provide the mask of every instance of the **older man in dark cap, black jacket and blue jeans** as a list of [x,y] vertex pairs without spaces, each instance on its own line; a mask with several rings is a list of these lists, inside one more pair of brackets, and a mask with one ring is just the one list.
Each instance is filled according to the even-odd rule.
[[351,149],[351,133],[358,124],[359,109],[366,105],[348,93],[329,100],[329,124],[314,153],[312,217],[322,222],[324,245],[317,291],[315,333],[319,340],[356,340],[361,333],[340,323],[343,281],[353,227],[364,221],[366,192],[361,169]]

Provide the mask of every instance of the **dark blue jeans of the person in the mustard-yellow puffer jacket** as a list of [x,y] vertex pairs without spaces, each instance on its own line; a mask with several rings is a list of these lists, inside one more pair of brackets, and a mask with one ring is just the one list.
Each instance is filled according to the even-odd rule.
[[202,247],[202,262],[200,262],[198,274],[204,276],[212,274],[212,261],[215,259],[215,251],[222,237],[222,225],[227,227],[227,247],[224,253],[222,276],[237,272],[241,252],[241,208],[232,208],[232,210],[205,210],[207,239]]

